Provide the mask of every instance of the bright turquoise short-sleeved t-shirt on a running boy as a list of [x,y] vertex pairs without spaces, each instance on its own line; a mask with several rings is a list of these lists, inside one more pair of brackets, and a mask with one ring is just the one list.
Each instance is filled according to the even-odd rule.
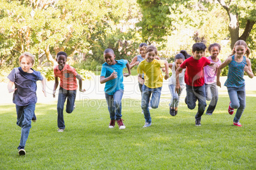
[[101,69],[101,76],[103,77],[110,77],[112,72],[117,72],[117,78],[112,79],[110,81],[107,81],[105,84],[104,91],[108,95],[114,95],[116,91],[119,89],[124,90],[124,75],[123,75],[123,69],[126,67],[127,60],[116,60],[115,65],[108,65],[108,63],[103,63],[102,69]]

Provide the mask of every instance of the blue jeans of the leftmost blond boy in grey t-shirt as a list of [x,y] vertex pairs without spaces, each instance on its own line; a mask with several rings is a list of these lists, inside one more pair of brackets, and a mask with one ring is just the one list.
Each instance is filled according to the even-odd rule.
[[16,105],[17,112],[17,125],[22,128],[20,137],[20,147],[25,147],[25,142],[29,137],[29,131],[31,129],[31,119],[34,116],[36,104],[27,106]]

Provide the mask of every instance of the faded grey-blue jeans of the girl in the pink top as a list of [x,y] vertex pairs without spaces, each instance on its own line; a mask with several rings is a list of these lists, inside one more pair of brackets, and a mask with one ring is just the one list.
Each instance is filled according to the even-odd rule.
[[205,85],[205,93],[206,100],[211,101],[208,106],[206,113],[213,113],[218,101],[218,88],[216,82],[213,84],[204,84]]

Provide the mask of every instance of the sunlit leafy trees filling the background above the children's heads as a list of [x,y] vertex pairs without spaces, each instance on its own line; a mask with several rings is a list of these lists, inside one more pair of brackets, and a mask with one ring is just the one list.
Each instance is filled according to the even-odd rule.
[[[168,36],[198,30],[185,42],[238,39],[256,48],[255,0],[6,0],[0,2],[0,67],[18,65],[29,51],[55,62],[59,51],[103,63],[112,48],[117,59],[131,61],[140,42],[168,48]],[[184,35],[184,34],[183,34]],[[181,37],[182,38],[182,37]],[[175,50],[184,44],[176,43]]]

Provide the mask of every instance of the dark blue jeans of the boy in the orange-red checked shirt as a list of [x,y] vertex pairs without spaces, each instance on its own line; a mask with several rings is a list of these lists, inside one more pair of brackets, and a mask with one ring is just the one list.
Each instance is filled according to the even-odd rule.
[[60,129],[65,129],[65,122],[63,116],[64,103],[68,98],[66,105],[66,112],[71,114],[74,110],[75,100],[76,100],[76,90],[67,90],[62,87],[59,88],[59,96],[57,103],[57,112],[58,112],[58,127]]

